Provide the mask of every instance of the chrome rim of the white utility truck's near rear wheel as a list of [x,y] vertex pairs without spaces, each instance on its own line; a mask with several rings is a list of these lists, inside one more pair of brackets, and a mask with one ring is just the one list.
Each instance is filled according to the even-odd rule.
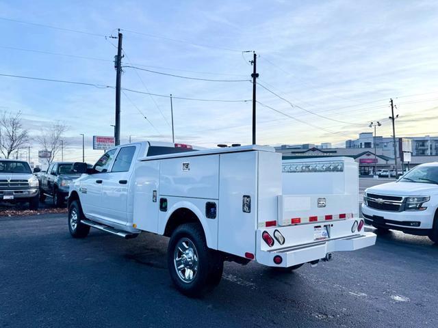
[[198,251],[189,238],[181,238],[173,253],[173,263],[179,279],[189,283],[194,280],[198,272]]

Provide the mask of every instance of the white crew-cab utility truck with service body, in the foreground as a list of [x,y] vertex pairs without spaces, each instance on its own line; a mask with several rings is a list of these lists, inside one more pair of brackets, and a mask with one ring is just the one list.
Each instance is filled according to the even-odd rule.
[[168,269],[185,295],[216,286],[224,260],[292,270],[374,245],[359,218],[357,163],[283,161],[266,146],[195,150],[139,142],[108,150],[70,184],[68,228],[170,237]]

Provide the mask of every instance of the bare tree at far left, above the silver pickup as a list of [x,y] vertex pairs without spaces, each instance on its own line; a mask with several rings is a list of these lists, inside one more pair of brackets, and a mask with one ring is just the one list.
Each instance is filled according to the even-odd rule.
[[23,128],[21,111],[7,113],[3,111],[0,118],[0,152],[9,159],[12,152],[23,148],[29,142],[29,132]]

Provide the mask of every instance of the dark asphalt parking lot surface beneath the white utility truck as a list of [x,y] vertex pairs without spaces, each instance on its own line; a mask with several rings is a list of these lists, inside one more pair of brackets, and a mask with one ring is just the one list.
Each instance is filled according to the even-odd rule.
[[66,215],[0,217],[0,327],[437,327],[438,247],[374,247],[279,274],[227,263],[201,299],[173,288],[167,238],[70,237]]

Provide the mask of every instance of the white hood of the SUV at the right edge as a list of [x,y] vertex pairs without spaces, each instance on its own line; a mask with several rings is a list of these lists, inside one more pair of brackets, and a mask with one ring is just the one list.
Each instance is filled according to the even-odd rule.
[[400,196],[428,196],[437,192],[438,184],[422,182],[389,182],[365,190],[365,193]]

